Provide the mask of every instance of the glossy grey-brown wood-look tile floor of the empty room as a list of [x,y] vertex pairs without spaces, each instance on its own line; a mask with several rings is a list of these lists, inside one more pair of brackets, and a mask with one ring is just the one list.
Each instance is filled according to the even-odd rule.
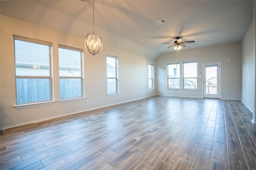
[[236,100],[154,96],[1,131],[0,169],[254,170]]

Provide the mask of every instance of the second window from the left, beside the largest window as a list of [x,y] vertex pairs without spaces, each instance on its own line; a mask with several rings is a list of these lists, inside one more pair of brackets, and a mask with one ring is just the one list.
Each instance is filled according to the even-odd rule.
[[59,45],[60,99],[83,97],[83,49]]

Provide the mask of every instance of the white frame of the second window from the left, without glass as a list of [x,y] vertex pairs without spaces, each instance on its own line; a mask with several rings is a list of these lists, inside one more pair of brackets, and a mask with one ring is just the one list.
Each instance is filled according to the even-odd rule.
[[[82,99],[84,98],[84,71],[83,71],[84,70],[84,50],[76,47],[62,45],[62,44],[58,45],[58,50],[60,48],[80,52],[80,76],[60,76],[59,74],[59,83],[61,79],[81,79],[81,96],[71,97],[71,98],[60,98],[60,102]],[[58,59],[60,59],[60,54],[58,55]],[[60,62],[59,62],[59,71],[60,71]],[[61,94],[61,91],[60,91],[60,94]]]

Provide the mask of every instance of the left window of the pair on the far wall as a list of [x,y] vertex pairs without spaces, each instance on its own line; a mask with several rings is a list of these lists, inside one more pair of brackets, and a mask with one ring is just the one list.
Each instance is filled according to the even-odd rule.
[[167,64],[168,88],[180,88],[180,64]]

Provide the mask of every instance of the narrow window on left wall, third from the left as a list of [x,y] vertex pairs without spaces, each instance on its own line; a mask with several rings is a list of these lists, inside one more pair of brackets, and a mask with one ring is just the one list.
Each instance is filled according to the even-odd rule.
[[108,94],[118,93],[118,58],[107,56]]

